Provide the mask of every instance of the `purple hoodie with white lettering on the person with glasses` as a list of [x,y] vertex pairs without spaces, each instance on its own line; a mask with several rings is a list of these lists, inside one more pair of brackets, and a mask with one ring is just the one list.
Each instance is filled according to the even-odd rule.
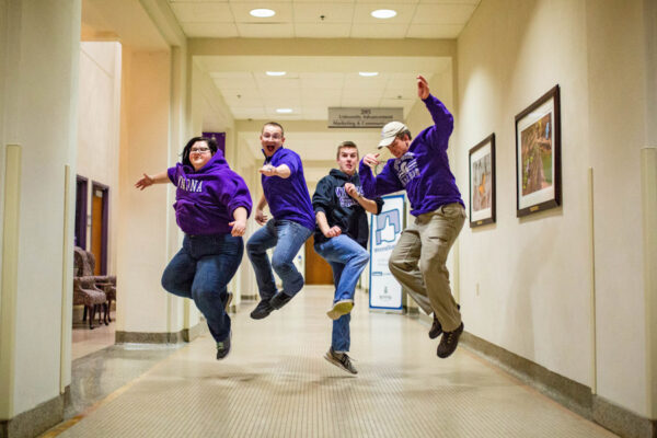
[[187,234],[228,234],[233,211],[244,207],[251,214],[251,194],[242,176],[231,171],[218,150],[198,172],[177,163],[166,172],[177,187],[175,219]]

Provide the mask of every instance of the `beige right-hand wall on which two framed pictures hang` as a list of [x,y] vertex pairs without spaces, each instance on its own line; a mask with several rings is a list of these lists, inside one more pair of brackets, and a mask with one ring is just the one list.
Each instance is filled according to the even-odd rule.
[[[646,415],[638,148],[639,1],[483,1],[458,41],[458,183],[496,135],[497,223],[460,237],[466,330]],[[515,115],[555,84],[563,207],[516,218]],[[452,145],[454,145],[452,139]],[[591,366],[587,172],[595,172],[597,354]]]

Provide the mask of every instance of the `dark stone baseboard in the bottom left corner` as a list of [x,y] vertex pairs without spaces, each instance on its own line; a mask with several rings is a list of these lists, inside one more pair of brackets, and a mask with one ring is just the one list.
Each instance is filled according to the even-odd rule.
[[64,406],[70,400],[70,388],[36,407],[11,419],[0,420],[0,438],[32,438],[64,420]]

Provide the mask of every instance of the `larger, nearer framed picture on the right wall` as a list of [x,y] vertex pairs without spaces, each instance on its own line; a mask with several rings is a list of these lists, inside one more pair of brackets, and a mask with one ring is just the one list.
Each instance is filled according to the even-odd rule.
[[558,85],[516,116],[516,216],[561,205]]

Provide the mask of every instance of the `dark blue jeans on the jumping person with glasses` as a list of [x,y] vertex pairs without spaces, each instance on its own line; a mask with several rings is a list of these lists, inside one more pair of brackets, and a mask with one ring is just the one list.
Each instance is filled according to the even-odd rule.
[[185,235],[183,247],[162,274],[162,287],[191,298],[208,322],[216,342],[230,335],[230,316],[223,310],[227,286],[242,261],[242,238],[230,234]]

